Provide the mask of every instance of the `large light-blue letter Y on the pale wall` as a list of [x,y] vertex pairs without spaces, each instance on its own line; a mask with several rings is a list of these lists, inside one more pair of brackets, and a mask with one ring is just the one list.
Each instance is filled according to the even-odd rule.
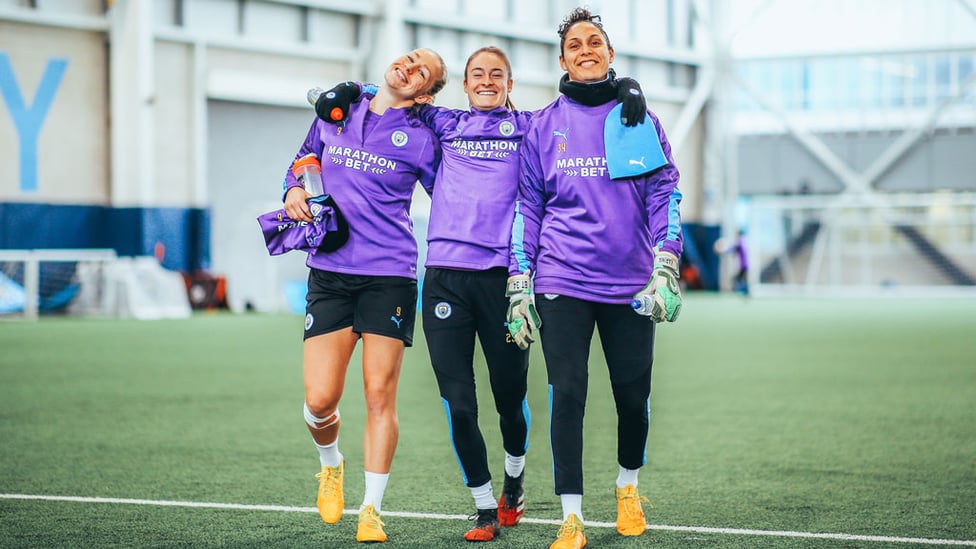
[[37,191],[37,138],[47,117],[54,95],[61,85],[61,77],[68,67],[67,59],[51,58],[44,69],[44,76],[34,93],[34,101],[28,108],[17,85],[13,66],[7,54],[0,52],[0,93],[7,102],[10,118],[17,128],[20,139],[20,190],[25,193]]

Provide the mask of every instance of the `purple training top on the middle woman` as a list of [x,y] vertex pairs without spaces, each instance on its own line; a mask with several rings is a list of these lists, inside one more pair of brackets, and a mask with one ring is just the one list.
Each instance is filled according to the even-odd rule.
[[431,197],[428,268],[508,267],[519,148],[530,116],[505,108],[420,111],[443,156]]

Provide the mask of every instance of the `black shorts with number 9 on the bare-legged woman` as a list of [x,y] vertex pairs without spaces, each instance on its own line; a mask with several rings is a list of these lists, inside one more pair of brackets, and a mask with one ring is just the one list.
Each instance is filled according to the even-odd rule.
[[305,337],[352,326],[413,346],[417,281],[400,276],[362,276],[310,269],[305,296]]

